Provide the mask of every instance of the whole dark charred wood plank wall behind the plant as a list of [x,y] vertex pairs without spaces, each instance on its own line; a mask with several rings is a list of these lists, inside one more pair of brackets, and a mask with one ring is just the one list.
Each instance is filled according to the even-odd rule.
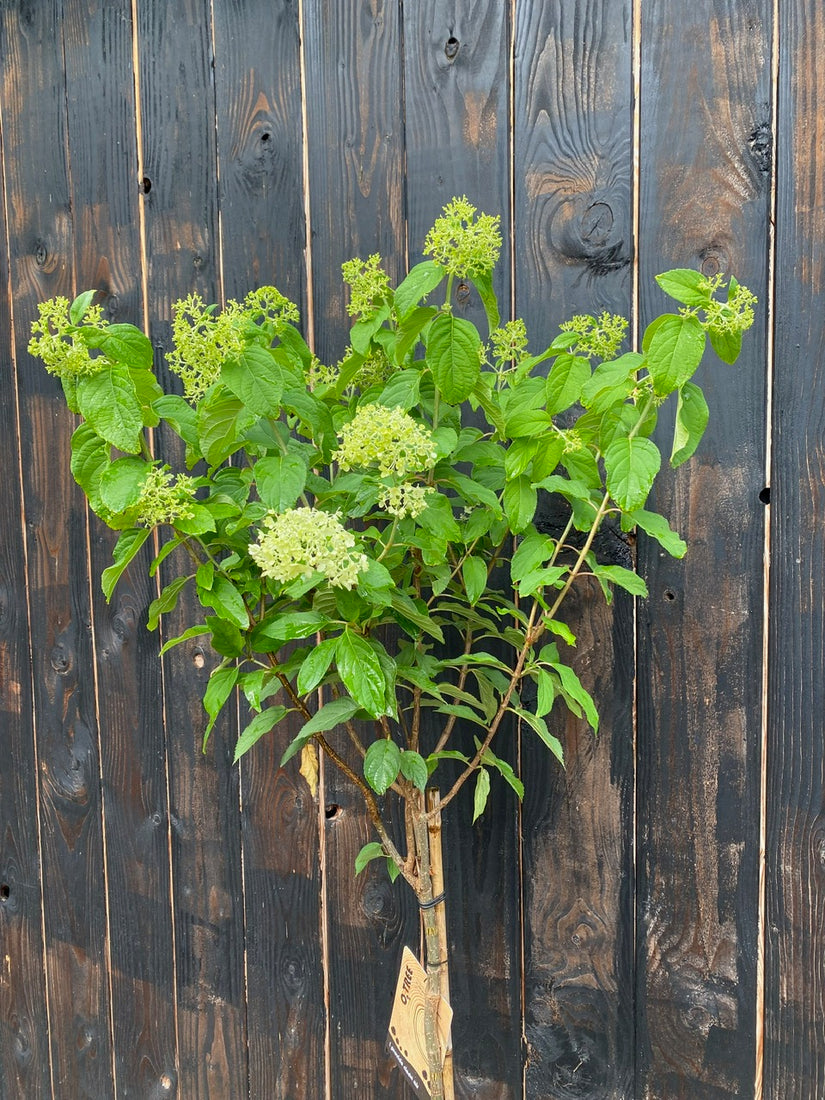
[[278,771],[289,730],[201,756],[212,657],[157,659],[140,570],[105,603],[26,343],[99,287],[163,375],[174,298],[274,282],[334,361],[341,262],[400,274],[461,194],[534,346],[638,329],[673,266],[760,307],[658,491],[689,556],[579,596],[600,738],[559,716],[564,773],[514,743],[520,810],[448,821],[458,1094],[825,1097],[823,57],[822,0],[0,0],[2,1100],[407,1094],[409,897],[353,879],[359,800]]

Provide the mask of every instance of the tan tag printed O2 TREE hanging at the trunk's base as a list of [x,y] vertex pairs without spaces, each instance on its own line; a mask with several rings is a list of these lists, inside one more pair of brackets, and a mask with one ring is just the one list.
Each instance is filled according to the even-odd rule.
[[[427,971],[409,947],[404,948],[398,985],[395,989],[393,1015],[389,1020],[387,1049],[402,1067],[402,1072],[415,1090],[417,1097],[431,1096],[428,1084],[427,1041],[424,1032],[425,1004],[427,999]],[[438,1035],[441,1045],[441,1062],[447,1057],[450,1043],[452,1009],[440,999],[438,1010]]]

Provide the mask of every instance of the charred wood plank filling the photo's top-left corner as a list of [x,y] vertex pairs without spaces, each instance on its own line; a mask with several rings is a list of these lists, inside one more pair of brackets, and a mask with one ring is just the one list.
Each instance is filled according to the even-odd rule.
[[[59,386],[25,350],[36,304],[74,290],[63,19],[59,3],[10,4],[2,12],[3,143],[53,1086],[106,1098],[113,1084],[86,508],[70,485],[73,425]],[[36,881],[34,867],[28,873]]]

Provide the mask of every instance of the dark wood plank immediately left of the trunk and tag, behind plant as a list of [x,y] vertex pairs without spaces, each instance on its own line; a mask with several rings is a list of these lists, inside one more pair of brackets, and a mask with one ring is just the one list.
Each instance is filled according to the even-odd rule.
[[[391,278],[404,267],[399,4],[312,0],[304,43],[315,345],[334,363],[350,324],[341,263],[380,252]],[[323,777],[331,1097],[400,1100],[407,1086],[384,1043],[417,916],[383,868],[354,877],[372,826],[360,792],[332,766]]]

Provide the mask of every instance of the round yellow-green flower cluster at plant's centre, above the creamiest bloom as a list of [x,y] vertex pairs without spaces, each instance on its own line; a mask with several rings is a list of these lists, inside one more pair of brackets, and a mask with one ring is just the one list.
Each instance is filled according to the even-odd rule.
[[339,438],[341,446],[332,458],[342,470],[377,466],[385,477],[404,480],[430,470],[438,454],[429,428],[399,406],[362,405]]

